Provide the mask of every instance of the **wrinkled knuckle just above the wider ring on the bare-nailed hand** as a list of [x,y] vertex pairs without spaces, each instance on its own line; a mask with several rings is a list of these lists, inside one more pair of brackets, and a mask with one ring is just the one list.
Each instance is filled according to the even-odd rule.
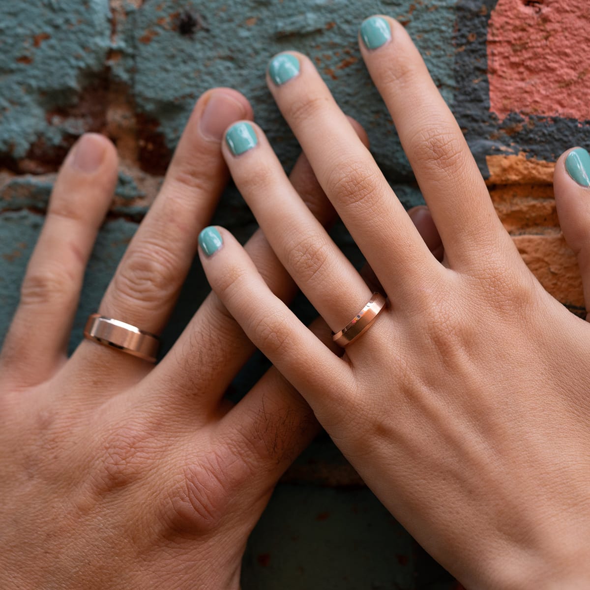
[[113,289],[120,299],[159,305],[178,289],[179,276],[168,250],[154,242],[143,242],[127,253],[113,278]]

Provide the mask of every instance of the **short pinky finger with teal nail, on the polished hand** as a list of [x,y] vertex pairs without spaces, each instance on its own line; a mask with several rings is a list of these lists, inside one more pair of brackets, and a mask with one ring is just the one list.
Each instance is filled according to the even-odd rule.
[[219,299],[254,345],[312,407],[319,399],[342,392],[342,383],[352,382],[348,363],[272,293],[230,232],[205,228],[199,235],[199,256]]

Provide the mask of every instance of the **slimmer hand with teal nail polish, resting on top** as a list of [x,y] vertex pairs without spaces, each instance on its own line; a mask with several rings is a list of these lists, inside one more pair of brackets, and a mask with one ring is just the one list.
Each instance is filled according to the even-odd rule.
[[[217,251],[201,253],[209,281],[379,499],[464,585],[588,588],[590,326],[521,260],[404,27],[376,17],[361,32],[440,232],[442,264],[312,62],[290,53],[271,62],[270,90],[389,307],[340,358],[273,296],[225,230]],[[252,149],[236,156],[224,146],[232,176],[336,332],[371,290],[300,201],[261,129],[250,129]],[[228,139],[236,130],[250,133],[238,123]],[[565,167],[579,153],[559,160],[555,190],[590,306],[590,189]],[[586,186],[588,168],[578,175]]]

